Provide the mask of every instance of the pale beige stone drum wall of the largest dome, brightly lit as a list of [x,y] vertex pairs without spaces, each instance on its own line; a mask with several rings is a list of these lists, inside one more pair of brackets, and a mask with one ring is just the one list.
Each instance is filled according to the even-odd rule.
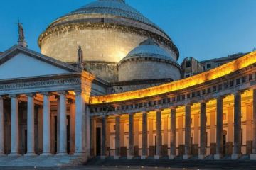
[[135,33],[88,28],[48,35],[43,39],[41,52],[63,62],[76,62],[77,48],[80,45],[85,61],[119,62],[146,39]]

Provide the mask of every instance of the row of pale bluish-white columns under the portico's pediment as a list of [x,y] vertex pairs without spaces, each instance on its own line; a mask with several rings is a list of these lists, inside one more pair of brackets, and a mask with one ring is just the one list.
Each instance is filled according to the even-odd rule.
[[[50,155],[50,93],[43,94],[43,153],[42,155]],[[58,154],[65,155],[67,152],[67,106],[66,92],[60,91],[59,103],[59,150]],[[27,154],[35,155],[35,94],[27,94]],[[10,95],[11,97],[11,154],[19,154],[19,120],[18,120],[18,95]],[[86,139],[90,136],[86,132],[87,114],[85,110],[85,94],[82,91],[75,91],[75,154],[86,154],[88,145]],[[0,155],[4,154],[4,102],[0,98]]]

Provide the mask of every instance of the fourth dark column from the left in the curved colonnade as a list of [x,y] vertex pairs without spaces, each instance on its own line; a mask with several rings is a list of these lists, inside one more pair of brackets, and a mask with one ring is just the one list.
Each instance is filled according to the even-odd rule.
[[147,144],[147,113],[142,113],[142,156],[141,159],[146,159],[148,154],[148,144]]

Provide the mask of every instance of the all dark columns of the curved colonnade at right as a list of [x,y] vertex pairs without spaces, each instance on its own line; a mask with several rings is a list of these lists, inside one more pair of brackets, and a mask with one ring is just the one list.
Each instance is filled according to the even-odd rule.
[[[238,91],[234,94],[234,147],[232,159],[238,159],[241,155],[241,94]],[[217,115],[216,115],[216,147],[214,159],[220,159],[223,157],[223,98],[220,96],[217,98]],[[206,103],[207,101],[202,101],[200,106],[200,149],[198,154],[198,159],[204,159],[206,157],[206,147],[207,147],[207,133],[206,133]],[[170,155],[169,159],[174,159],[176,157],[176,108],[171,108],[171,144],[170,144]],[[106,117],[102,119],[102,130],[106,130]],[[120,116],[117,115],[115,118],[115,159],[119,158],[120,155]],[[162,147],[162,135],[161,135],[161,110],[156,111],[156,156],[155,159],[161,157],[161,147]],[[129,113],[129,154],[128,159],[134,157],[134,115]],[[142,156],[141,159],[146,159],[148,155],[147,146],[147,113],[142,113]],[[102,143],[106,141],[106,136],[102,135]],[[185,106],[185,154],[183,159],[188,159],[191,157],[191,104]],[[102,147],[102,149],[106,147]],[[106,152],[102,152],[106,156]],[[256,159],[256,90],[253,90],[253,143],[252,143],[252,154],[251,159]]]

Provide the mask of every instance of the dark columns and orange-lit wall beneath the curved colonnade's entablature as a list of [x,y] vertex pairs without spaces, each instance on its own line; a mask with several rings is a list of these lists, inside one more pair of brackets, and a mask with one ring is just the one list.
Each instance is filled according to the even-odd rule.
[[247,90],[186,106],[97,117],[102,120],[98,127],[108,134],[102,135],[101,156],[238,159],[252,154],[253,93]]

